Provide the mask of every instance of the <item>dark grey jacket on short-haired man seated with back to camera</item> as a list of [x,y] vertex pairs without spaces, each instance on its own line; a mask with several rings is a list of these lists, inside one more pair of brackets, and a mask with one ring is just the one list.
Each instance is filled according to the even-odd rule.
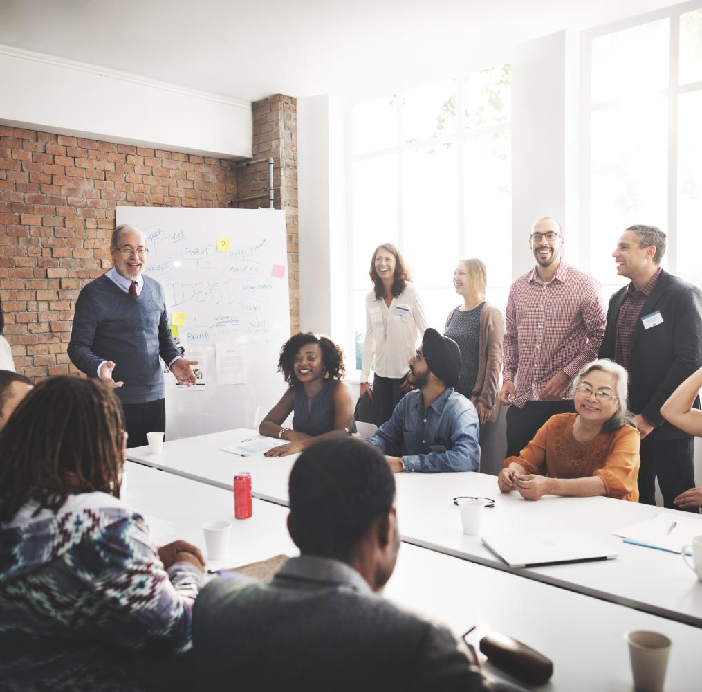
[[201,690],[486,689],[447,629],[319,557],[289,560],[270,584],[208,584],[194,606],[193,647]]

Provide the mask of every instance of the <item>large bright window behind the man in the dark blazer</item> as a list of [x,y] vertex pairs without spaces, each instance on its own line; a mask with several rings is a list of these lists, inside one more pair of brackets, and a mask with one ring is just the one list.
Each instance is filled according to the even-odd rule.
[[695,5],[604,27],[584,41],[583,228],[606,296],[623,285],[611,252],[633,223],[664,230],[663,266],[702,285],[702,8]]

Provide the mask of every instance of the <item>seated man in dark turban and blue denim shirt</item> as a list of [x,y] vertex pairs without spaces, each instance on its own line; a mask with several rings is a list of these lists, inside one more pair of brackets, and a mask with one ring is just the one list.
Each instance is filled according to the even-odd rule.
[[400,399],[390,420],[366,439],[386,455],[395,473],[477,471],[480,426],[475,406],[453,389],[460,369],[456,341],[427,329],[409,359],[407,379],[417,389]]

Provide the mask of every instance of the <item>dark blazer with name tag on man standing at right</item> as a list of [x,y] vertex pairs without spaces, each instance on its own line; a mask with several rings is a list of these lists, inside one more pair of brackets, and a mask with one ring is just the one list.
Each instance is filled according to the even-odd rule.
[[[600,358],[614,360],[616,322],[626,289],[619,289],[609,300]],[[641,320],[636,323],[629,360],[629,408],[656,426],[651,438],[673,440],[688,435],[663,419],[661,406],[702,365],[702,292],[661,270],[641,315],[656,311],[661,312],[662,324],[644,329]],[[699,408],[699,398],[694,406]]]

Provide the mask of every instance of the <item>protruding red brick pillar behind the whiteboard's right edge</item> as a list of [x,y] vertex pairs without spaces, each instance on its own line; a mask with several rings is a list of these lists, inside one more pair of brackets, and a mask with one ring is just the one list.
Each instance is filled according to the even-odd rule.
[[[254,159],[273,159],[274,206],[285,211],[288,244],[291,334],[300,331],[300,263],[298,255],[298,102],[276,94],[252,104]],[[258,164],[237,171],[237,195],[263,195],[268,188],[268,167]],[[267,207],[267,200],[245,202],[241,207]]]

